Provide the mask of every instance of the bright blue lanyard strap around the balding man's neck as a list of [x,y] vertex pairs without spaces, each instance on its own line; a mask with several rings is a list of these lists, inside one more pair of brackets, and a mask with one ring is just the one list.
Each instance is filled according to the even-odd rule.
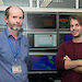
[[[4,31],[4,33],[5,33],[5,35],[7,35],[7,30]],[[16,52],[15,52],[15,50],[14,50],[13,44],[12,44],[12,42],[11,42],[10,38],[8,38],[8,42],[9,42],[9,45],[10,45],[10,48],[11,48],[11,51],[12,51],[14,58],[16,58],[16,57],[19,56],[20,51],[21,51],[21,42],[20,42],[20,46],[17,47]]]

